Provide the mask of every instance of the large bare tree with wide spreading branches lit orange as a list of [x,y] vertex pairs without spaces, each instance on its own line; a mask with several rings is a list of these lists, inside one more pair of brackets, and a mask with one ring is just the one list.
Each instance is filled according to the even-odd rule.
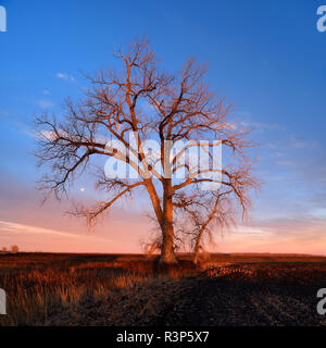
[[[108,177],[102,171],[97,175],[96,188],[106,192],[108,199],[93,207],[77,207],[75,213],[92,223],[120,199],[143,189],[161,232],[160,240],[155,240],[161,262],[175,263],[178,212],[191,217],[198,252],[202,236],[213,222],[227,223],[226,216],[234,216],[236,204],[247,211],[255,181],[244,152],[252,144],[247,139],[248,132],[229,120],[229,105],[225,107],[224,98],[210,90],[203,80],[205,67],[193,59],[179,73],[167,74],[147,40],[136,41],[115,58],[122,63],[121,71],[99,71],[88,76],[90,87],[85,98],[78,103],[68,99],[62,120],[47,114],[37,117],[39,164],[51,164],[51,173],[42,177],[41,187],[60,198],[89,167],[92,158],[114,158],[126,163],[138,178]],[[130,132],[135,144],[128,136]],[[108,146],[112,139],[126,151]],[[145,149],[146,139],[159,142],[159,156],[150,156]],[[210,141],[202,145],[202,139]],[[192,141],[175,152],[174,146],[183,140]],[[228,159],[223,170],[191,166],[189,158],[181,160],[187,151],[202,148],[211,163],[217,146],[223,146],[224,158]],[[185,171],[184,178],[174,177],[179,170]],[[218,175],[212,176],[214,173]],[[203,184],[217,184],[220,189],[203,192]],[[231,202],[233,213],[226,210],[226,202]]]

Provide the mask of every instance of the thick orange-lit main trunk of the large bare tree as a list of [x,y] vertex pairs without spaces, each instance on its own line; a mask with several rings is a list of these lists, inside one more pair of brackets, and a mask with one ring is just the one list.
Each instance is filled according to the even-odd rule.
[[174,253],[173,201],[170,185],[171,179],[166,179],[163,196],[163,221],[161,223],[163,238],[160,263],[175,264],[177,260]]

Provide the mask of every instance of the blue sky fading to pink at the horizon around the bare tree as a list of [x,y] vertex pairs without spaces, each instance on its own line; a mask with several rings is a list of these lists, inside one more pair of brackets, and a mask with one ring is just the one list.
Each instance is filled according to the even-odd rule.
[[[66,202],[39,206],[32,123],[40,111],[60,113],[65,97],[80,96],[82,72],[114,66],[114,49],[147,35],[166,70],[177,71],[189,55],[208,62],[208,79],[233,102],[231,115],[256,128],[261,146],[253,156],[260,159],[264,185],[254,197],[251,220],[221,239],[218,250],[325,253],[326,33],[316,29],[321,4],[0,0],[8,13],[8,32],[0,33],[0,246],[17,241],[27,249],[59,250],[60,241],[34,246],[24,226],[32,226],[30,234],[35,226],[90,240],[109,238],[101,251],[118,246],[123,212],[88,233],[83,222],[62,215]],[[78,187],[74,195],[80,197]],[[83,195],[95,197],[91,186]],[[137,251],[149,229],[133,207],[130,226],[137,225],[138,233],[126,234],[124,251]],[[68,248],[75,250],[73,244]],[[98,250],[96,241],[80,248]]]

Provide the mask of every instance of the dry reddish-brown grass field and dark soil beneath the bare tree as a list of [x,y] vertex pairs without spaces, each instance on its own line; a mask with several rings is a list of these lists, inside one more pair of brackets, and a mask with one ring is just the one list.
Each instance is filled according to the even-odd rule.
[[326,258],[190,256],[167,273],[141,254],[0,254],[0,325],[326,325]]

